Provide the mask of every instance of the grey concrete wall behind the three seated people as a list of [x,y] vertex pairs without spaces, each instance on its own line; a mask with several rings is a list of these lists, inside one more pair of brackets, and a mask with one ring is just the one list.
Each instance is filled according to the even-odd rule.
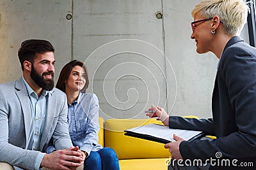
[[20,77],[22,41],[47,39],[56,48],[55,81],[64,64],[83,61],[87,92],[99,97],[104,119],[145,118],[150,104],[172,115],[211,117],[218,59],[197,54],[190,39],[190,13],[199,2],[0,0],[0,83]]

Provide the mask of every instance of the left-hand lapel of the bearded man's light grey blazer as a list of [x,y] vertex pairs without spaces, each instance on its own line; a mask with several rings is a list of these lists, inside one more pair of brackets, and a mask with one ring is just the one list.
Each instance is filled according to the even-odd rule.
[[[28,96],[28,91],[26,89],[26,86],[24,85],[24,82],[22,81],[22,78],[15,81],[15,89],[16,89],[16,95],[19,98],[20,106],[23,113],[24,118],[24,125],[25,125],[25,133],[26,133],[26,145],[28,145],[29,141],[29,131],[31,128],[31,109],[30,109],[30,101]],[[27,148],[28,146],[26,146]]]

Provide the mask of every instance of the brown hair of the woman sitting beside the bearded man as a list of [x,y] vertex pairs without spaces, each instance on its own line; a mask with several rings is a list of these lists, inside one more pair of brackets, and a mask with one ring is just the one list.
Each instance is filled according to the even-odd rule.
[[86,89],[88,88],[89,86],[89,78],[88,78],[88,69],[87,67],[83,64],[83,62],[81,61],[78,61],[78,60],[72,60],[70,62],[68,62],[62,69],[61,69],[61,72],[60,72],[60,76],[59,76],[59,79],[58,79],[58,82],[56,84],[56,88],[60,89],[61,91],[65,92],[65,81],[68,79],[68,76],[69,74],[71,73],[72,71],[72,68],[74,66],[81,66],[84,71],[85,71],[85,80],[86,80],[86,83],[83,87],[83,89],[80,90],[80,92],[82,93],[85,93],[86,92]]

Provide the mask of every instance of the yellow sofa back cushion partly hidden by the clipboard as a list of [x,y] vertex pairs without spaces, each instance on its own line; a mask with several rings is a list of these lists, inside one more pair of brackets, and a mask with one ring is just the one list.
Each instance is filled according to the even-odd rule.
[[109,119],[104,124],[104,146],[113,148],[118,159],[168,158],[170,152],[162,143],[124,135],[125,129],[146,124],[162,124],[155,118]]

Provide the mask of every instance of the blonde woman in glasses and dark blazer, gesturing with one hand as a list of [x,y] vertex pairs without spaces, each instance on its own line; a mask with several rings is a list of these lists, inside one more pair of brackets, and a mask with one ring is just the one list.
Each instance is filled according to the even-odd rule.
[[[196,52],[212,52],[220,59],[212,93],[212,118],[168,117],[163,108],[153,105],[148,110],[156,112],[147,115],[159,117],[170,128],[204,131],[217,139],[184,141],[174,136],[175,142],[164,145],[173,159],[204,162],[220,156],[238,160],[256,157],[256,48],[237,36],[247,13],[243,0],[206,0],[192,11],[191,39],[195,40]],[[169,169],[178,167],[171,165]]]

